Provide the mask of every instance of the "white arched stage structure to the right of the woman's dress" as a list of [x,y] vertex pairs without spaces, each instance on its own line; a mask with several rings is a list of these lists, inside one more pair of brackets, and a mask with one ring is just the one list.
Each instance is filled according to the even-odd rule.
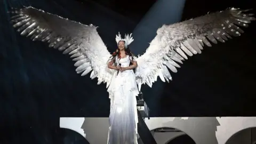
[[[219,125],[211,121],[211,119],[217,119]],[[189,117],[187,120],[178,117],[151,117],[149,120],[146,119],[145,122],[149,130],[156,129],[157,127],[173,127],[181,130],[187,133],[197,144],[217,144],[217,142],[225,144],[235,133],[243,129],[255,127],[256,117]],[[217,130],[213,135],[213,130],[209,129],[215,126],[217,126]]]

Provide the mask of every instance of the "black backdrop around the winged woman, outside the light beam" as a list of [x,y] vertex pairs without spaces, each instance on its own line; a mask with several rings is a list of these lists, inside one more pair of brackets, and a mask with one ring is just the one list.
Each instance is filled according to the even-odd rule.
[[[21,37],[10,25],[10,7],[33,6],[85,24],[98,31],[109,51],[115,35],[131,33],[156,1],[4,0],[0,2],[0,135],[1,143],[83,141],[59,129],[59,117],[108,117],[106,85],[76,74],[68,55]],[[252,1],[187,0],[182,20],[227,7],[254,8]],[[255,11],[253,11],[255,13]],[[166,17],[166,19],[168,19]],[[166,23],[168,24],[168,23]],[[205,47],[181,65],[158,95],[143,86],[151,117],[256,116],[255,22],[245,34]],[[134,43],[136,42],[136,39]],[[148,43],[148,42],[147,42]],[[138,47],[131,47],[140,49]],[[142,47],[141,49],[146,49]],[[162,83],[162,82],[157,82]],[[157,91],[157,90],[156,90]],[[2,133],[2,132],[1,132]],[[81,136],[82,137],[82,136]]]

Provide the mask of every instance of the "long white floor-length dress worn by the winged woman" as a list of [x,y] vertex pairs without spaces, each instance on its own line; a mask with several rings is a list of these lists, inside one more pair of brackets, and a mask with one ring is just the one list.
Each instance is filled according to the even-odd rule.
[[[121,67],[128,67],[132,57],[116,58]],[[135,59],[133,59],[135,61]],[[139,94],[133,70],[115,72],[108,87],[110,115],[108,144],[137,144],[137,100]]]

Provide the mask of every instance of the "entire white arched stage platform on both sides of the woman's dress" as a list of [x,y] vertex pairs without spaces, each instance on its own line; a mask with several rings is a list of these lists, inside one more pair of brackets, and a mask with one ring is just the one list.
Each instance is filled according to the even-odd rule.
[[[182,131],[153,134],[159,144],[182,134],[188,134],[196,144],[225,144],[237,132],[256,127],[256,117],[150,117],[145,123],[150,131],[161,127]],[[78,132],[91,144],[107,142],[108,117],[61,117],[60,127]],[[246,140],[242,143],[249,144]]]

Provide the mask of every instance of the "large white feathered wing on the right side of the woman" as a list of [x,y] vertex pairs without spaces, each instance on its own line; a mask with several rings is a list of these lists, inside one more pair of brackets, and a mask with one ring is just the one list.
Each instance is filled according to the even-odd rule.
[[176,73],[178,63],[188,59],[187,55],[201,53],[204,45],[240,36],[244,31],[238,26],[247,27],[255,20],[253,14],[243,13],[247,11],[230,8],[159,28],[146,52],[137,58],[135,75],[139,89],[145,83],[151,87],[158,76],[163,82],[172,80],[167,68]]

